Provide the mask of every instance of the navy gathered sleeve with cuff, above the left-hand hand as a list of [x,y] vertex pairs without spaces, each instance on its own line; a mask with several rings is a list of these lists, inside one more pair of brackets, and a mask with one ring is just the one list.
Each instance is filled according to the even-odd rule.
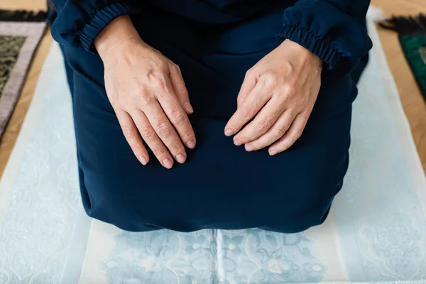
[[121,15],[139,8],[125,0],[50,0],[52,36],[64,45],[82,46],[95,52],[94,38]]

